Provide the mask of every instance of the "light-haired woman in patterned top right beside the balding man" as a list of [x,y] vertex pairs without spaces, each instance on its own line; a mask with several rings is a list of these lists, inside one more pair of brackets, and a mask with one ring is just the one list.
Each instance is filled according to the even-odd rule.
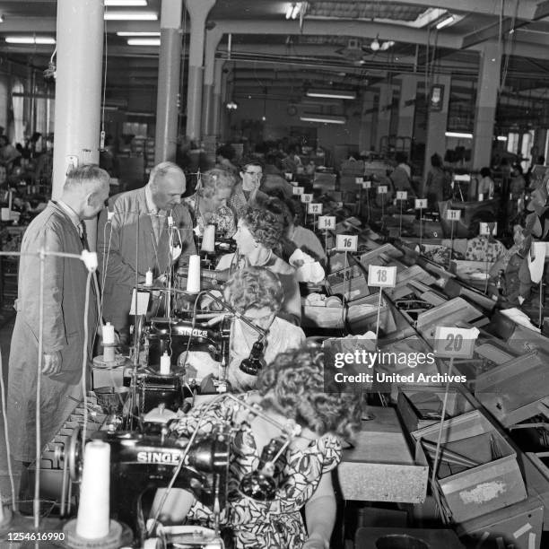
[[205,171],[196,186],[196,193],[185,199],[195,221],[195,230],[204,234],[206,225],[215,225],[219,238],[230,239],[236,232],[235,212],[229,206],[236,177],[228,170]]

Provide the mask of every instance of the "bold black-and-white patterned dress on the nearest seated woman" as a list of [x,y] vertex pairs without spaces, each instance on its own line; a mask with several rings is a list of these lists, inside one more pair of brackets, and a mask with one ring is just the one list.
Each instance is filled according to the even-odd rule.
[[[196,430],[211,432],[222,418],[232,417],[237,404],[228,397],[207,411],[204,406],[191,410],[175,425],[175,431],[187,435]],[[307,539],[301,508],[316,491],[320,477],[341,460],[341,444],[333,436],[312,440],[305,449],[288,449],[274,501],[256,501],[239,491],[244,475],[257,469],[261,450],[252,432],[243,427],[233,435],[229,473],[227,512],[222,524],[231,527],[237,549],[300,549]],[[212,526],[213,512],[196,501],[188,517]]]

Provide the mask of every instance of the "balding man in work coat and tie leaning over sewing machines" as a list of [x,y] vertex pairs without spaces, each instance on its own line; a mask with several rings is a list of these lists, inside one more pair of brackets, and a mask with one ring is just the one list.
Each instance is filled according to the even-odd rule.
[[135,283],[144,283],[149,269],[158,279],[176,260],[186,265],[188,256],[196,253],[191,216],[181,203],[185,189],[183,170],[173,162],[161,162],[145,187],[113,196],[109,214],[100,215],[97,248],[103,317],[118,330],[123,343],[129,338]]

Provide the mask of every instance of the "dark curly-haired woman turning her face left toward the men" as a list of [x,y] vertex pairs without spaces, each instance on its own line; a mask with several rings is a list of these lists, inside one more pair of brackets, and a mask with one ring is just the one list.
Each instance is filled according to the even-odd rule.
[[238,260],[244,266],[264,266],[278,276],[283,286],[283,306],[278,316],[301,324],[301,295],[295,269],[278,257],[274,249],[279,248],[283,237],[283,211],[276,199],[256,207],[248,207],[240,216],[238,229],[233,240],[237,243],[237,256],[222,257],[219,270],[226,269]]

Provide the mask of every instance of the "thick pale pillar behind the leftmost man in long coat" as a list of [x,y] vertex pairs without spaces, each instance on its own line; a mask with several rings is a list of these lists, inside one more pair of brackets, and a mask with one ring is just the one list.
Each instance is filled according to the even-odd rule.
[[[54,200],[73,165],[99,163],[103,11],[103,0],[57,0]],[[95,249],[96,222],[86,226]]]

